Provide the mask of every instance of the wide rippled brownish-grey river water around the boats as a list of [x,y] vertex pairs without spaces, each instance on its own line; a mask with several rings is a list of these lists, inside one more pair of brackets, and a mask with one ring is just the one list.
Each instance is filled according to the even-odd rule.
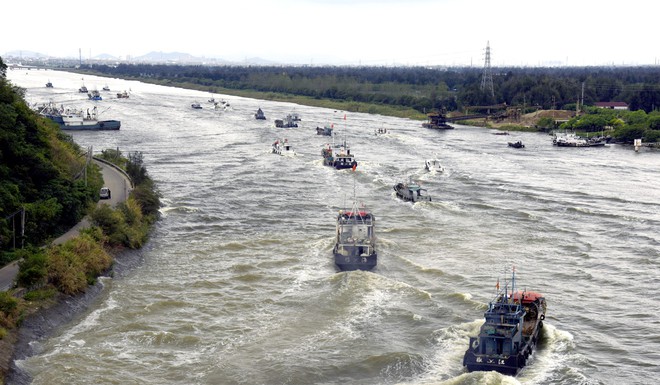
[[[162,193],[141,263],[17,362],[34,384],[649,384],[660,375],[658,151],[558,148],[420,122],[56,71],[9,70],[29,103],[91,108],[119,131],[70,132],[140,151]],[[54,88],[45,83],[52,81]],[[77,89],[108,85],[103,101]],[[128,99],[116,93],[127,90]],[[224,99],[215,110],[207,100]],[[200,102],[203,109],[191,108]],[[261,107],[266,121],[254,119]],[[275,128],[298,113],[300,127]],[[359,163],[322,165],[334,124]],[[385,128],[385,135],[374,131]],[[298,156],[271,153],[288,139]],[[524,149],[507,147],[522,140]],[[428,173],[438,158],[444,173]],[[418,179],[432,202],[397,199]],[[338,272],[334,220],[377,218],[373,272]],[[516,377],[468,373],[498,279],[548,301]]]

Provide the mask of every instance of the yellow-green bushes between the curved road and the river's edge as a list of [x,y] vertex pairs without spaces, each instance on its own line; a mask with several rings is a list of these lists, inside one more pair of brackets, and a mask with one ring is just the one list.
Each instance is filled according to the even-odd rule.
[[139,183],[117,208],[95,206],[89,213],[91,226],[81,230],[79,236],[61,245],[23,252],[27,255],[19,264],[19,287],[52,287],[64,294],[84,292],[112,265],[109,251],[138,249],[147,241],[149,229],[158,219],[160,194],[141,163],[141,154],[124,158],[116,150],[106,150],[102,157],[120,159],[131,180]]

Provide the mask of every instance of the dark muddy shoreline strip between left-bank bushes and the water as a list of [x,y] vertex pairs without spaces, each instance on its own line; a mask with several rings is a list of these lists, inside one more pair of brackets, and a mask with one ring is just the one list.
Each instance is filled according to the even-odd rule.
[[[102,277],[122,277],[142,263],[144,249],[126,250],[114,256],[111,270]],[[27,385],[32,383],[32,377],[23,371],[16,361],[21,361],[39,353],[43,341],[67,323],[71,322],[97,300],[103,291],[103,280],[99,279],[94,286],[89,286],[85,293],[69,296],[58,294],[54,303],[41,308],[23,320],[13,341],[13,354],[8,363],[5,377],[7,385]]]

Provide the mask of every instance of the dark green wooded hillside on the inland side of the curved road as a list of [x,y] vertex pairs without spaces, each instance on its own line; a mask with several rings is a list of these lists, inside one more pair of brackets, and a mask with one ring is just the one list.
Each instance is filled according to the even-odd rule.
[[28,108],[0,59],[0,265],[64,233],[98,200],[102,178],[71,137]]

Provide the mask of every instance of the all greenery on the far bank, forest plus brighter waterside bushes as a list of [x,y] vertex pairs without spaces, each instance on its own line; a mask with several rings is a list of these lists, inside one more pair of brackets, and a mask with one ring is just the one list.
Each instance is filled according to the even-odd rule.
[[[481,89],[483,71],[478,68],[120,64],[83,66],[76,71],[420,120],[430,111],[452,114],[496,103],[524,114],[538,109],[575,111],[578,99],[586,106],[599,101],[623,101],[632,111],[583,107],[584,113],[562,127],[550,118],[531,127],[515,122],[497,127],[511,131],[608,130],[608,135],[620,142],[632,143],[633,136],[645,142],[658,140],[658,128],[652,123],[660,106],[660,71],[655,67],[495,68],[494,95]],[[645,114],[648,119],[628,118],[635,114]],[[597,118],[600,116],[608,118]],[[603,125],[595,129],[594,122]],[[610,124],[617,122],[622,124]],[[464,123],[491,125],[483,121]]]

